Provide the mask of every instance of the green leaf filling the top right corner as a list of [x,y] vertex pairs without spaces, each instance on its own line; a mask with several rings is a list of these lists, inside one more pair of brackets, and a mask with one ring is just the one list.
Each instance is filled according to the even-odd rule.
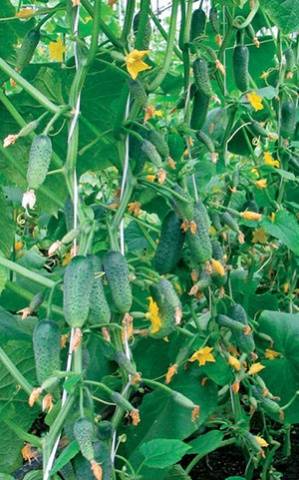
[[299,0],[261,0],[260,5],[284,33],[299,29]]

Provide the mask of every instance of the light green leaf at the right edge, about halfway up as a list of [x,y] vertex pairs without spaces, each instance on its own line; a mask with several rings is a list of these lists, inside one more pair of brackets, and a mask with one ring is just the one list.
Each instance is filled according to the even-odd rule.
[[296,255],[299,255],[299,224],[292,213],[287,210],[279,210],[275,215],[274,222],[265,218],[261,226],[267,233],[280,240]]

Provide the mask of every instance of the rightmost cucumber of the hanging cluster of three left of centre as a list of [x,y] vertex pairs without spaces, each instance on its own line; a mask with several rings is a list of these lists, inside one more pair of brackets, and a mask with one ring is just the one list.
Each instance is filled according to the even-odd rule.
[[120,252],[107,252],[103,265],[114,306],[119,313],[129,312],[133,299],[125,257]]

